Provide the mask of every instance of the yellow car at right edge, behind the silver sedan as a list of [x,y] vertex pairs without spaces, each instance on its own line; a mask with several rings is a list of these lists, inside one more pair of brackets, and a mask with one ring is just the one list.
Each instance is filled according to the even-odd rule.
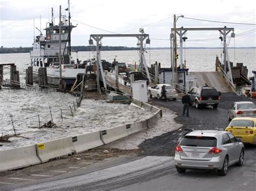
[[242,139],[242,143],[256,144],[256,117],[235,117],[225,131]]

